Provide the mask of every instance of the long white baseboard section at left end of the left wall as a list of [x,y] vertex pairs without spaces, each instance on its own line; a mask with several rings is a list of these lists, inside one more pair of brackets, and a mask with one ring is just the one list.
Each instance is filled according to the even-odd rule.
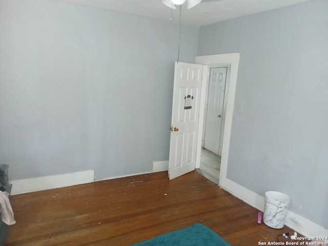
[[87,170],[37,178],[11,180],[11,195],[81,185],[94,181],[94,171]]

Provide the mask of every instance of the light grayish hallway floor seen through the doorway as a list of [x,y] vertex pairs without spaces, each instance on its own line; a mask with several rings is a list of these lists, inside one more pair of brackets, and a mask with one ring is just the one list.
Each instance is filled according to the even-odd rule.
[[200,168],[196,169],[198,173],[219,184],[221,166],[221,156],[202,148],[200,154]]

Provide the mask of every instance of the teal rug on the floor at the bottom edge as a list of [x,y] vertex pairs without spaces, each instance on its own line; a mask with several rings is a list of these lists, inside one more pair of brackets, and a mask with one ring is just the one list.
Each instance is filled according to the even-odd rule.
[[230,246],[210,228],[196,223],[131,246]]

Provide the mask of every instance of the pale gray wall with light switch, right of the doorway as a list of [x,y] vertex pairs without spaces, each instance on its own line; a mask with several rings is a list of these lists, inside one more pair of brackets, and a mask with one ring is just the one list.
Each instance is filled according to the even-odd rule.
[[328,1],[200,28],[198,55],[240,52],[228,178],[328,227]]

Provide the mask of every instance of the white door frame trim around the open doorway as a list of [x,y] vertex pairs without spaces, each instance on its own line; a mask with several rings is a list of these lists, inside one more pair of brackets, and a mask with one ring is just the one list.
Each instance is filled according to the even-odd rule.
[[[229,90],[227,98],[227,112],[226,119],[224,120],[224,130],[223,130],[223,144],[222,144],[222,156],[221,156],[221,167],[220,167],[220,177],[219,185],[224,187],[227,183],[227,169],[228,169],[228,157],[229,157],[229,147],[230,147],[230,137],[231,137],[231,127],[232,127],[232,118],[234,111],[234,102],[236,94],[236,84],[237,84],[237,73],[239,66],[240,53],[230,53],[230,54],[217,54],[217,55],[202,55],[196,57],[196,63],[212,66],[212,65],[230,65],[230,81],[229,81]],[[206,69],[204,69],[206,70]],[[200,98],[200,111],[199,118],[204,116],[204,104],[207,79],[203,79],[201,87],[201,98]],[[199,120],[198,124],[198,133],[202,133],[203,129],[203,120]],[[199,135],[199,134],[198,134]],[[200,167],[200,152],[201,152],[201,137],[197,139],[196,147],[196,165],[195,168]]]

